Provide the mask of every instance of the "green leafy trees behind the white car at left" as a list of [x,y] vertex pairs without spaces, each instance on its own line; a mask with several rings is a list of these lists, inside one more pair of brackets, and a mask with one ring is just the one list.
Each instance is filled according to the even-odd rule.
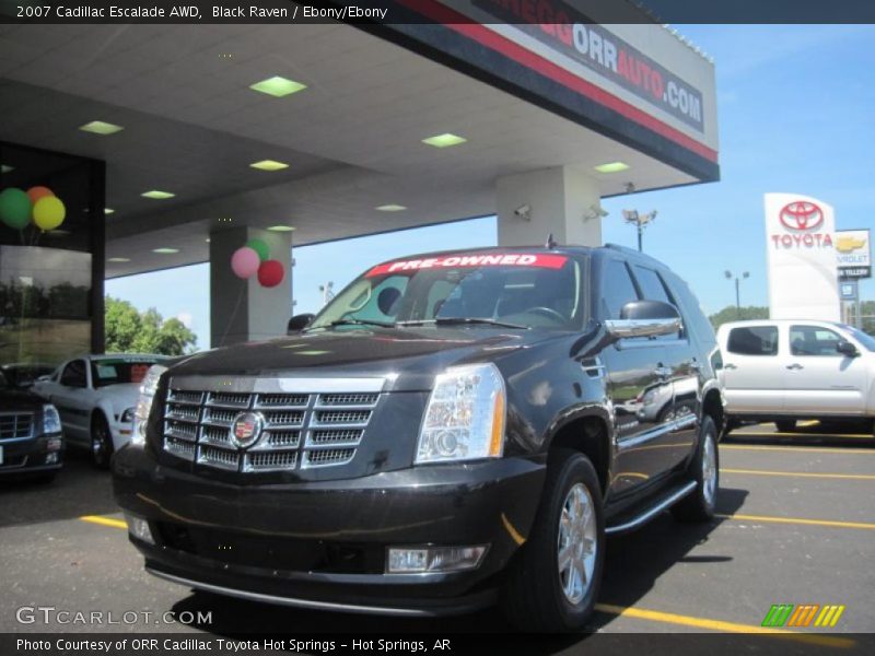
[[114,353],[183,355],[195,350],[197,337],[179,319],[166,321],[154,307],[143,313],[127,301],[106,297],[106,350]]

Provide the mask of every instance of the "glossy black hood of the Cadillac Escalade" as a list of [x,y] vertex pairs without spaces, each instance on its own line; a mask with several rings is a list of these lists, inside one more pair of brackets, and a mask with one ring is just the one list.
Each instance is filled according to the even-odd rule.
[[390,389],[431,389],[447,366],[493,361],[561,336],[498,327],[342,328],[197,353],[172,375],[383,377]]

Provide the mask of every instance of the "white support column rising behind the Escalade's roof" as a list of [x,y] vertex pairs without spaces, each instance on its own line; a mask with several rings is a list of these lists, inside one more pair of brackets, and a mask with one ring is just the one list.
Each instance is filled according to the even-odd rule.
[[598,185],[584,166],[557,166],[499,178],[499,246],[600,246]]

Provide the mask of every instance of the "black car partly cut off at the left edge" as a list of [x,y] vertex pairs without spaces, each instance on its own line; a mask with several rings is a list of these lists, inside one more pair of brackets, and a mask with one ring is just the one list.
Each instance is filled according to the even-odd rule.
[[0,479],[49,481],[62,466],[61,420],[55,406],[0,372]]

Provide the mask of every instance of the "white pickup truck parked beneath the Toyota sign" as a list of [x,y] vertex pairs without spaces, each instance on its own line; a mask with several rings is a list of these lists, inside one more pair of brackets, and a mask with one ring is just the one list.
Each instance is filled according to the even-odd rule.
[[844,324],[732,321],[718,330],[730,421],[875,418],[875,338]]

